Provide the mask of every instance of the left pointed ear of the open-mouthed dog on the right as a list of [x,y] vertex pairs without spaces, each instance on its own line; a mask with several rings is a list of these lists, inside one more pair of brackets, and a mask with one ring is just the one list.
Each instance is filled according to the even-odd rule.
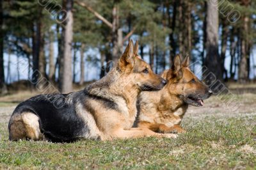
[[177,77],[178,79],[182,77],[181,61],[179,54],[177,54],[173,59],[172,67],[167,73],[167,79],[172,79],[174,77]]

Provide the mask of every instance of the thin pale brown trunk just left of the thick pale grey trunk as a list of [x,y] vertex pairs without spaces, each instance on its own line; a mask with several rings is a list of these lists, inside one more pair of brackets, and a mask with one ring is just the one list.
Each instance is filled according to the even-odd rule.
[[54,45],[53,45],[53,33],[52,30],[49,31],[49,79],[54,82]]

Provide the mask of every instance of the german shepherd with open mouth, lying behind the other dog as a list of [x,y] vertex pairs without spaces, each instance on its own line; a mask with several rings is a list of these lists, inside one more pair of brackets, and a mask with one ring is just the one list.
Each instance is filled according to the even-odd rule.
[[138,102],[138,127],[160,133],[186,132],[180,127],[188,105],[202,106],[204,99],[211,96],[211,90],[189,70],[188,56],[180,62],[174,58],[172,68],[161,77],[168,82],[160,91],[141,93]]

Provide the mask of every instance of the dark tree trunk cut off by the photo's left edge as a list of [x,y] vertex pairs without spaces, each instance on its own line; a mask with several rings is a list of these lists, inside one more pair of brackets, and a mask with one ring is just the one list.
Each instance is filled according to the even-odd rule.
[[3,1],[0,2],[0,95],[7,93],[4,81],[4,33],[3,33]]

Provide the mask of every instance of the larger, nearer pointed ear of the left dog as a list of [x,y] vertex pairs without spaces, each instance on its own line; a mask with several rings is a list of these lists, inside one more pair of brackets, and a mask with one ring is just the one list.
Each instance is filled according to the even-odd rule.
[[124,54],[122,54],[121,58],[118,61],[118,65],[121,70],[129,66],[132,68],[134,66],[134,50],[133,50],[133,42],[129,41],[127,47],[124,50]]

